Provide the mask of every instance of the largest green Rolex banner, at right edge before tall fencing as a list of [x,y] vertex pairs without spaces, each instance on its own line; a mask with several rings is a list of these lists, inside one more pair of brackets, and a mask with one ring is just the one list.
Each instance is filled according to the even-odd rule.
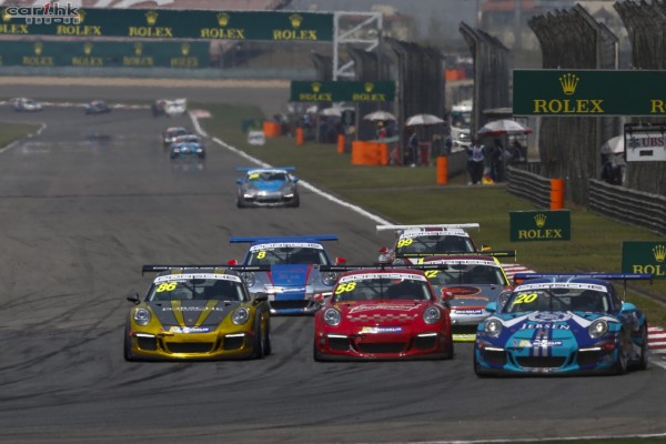
[[514,70],[514,115],[666,115],[666,71]]

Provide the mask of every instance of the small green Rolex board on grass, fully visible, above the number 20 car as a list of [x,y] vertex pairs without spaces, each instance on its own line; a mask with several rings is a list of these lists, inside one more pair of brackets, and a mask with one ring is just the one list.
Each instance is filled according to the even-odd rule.
[[571,241],[572,239],[568,210],[512,211],[508,214],[512,242]]

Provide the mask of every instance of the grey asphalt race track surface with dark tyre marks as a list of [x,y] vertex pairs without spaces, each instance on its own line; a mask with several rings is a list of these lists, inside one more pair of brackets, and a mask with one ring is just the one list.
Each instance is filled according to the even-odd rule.
[[[102,97],[67,97],[88,91]],[[1,97],[38,95],[22,92],[0,88]],[[120,100],[132,90],[104,94]],[[624,376],[486,380],[472,371],[471,344],[458,344],[451,361],[315,363],[311,317],[273,319],[274,354],[262,361],[127,363],[124,296],[147,289],[142,264],[224,263],[243,252],[232,235],[333,233],[340,241],[330,252],[351,262],[372,261],[387,240],[375,221],[307,190],[300,209],[238,210],[234,170],[248,160],[213,142],[202,169],[163,152],[159,133],[191,125],[186,118],[54,107],[18,114],[2,105],[0,120],[46,123],[0,152],[2,443],[666,433],[666,373],[656,365]]]

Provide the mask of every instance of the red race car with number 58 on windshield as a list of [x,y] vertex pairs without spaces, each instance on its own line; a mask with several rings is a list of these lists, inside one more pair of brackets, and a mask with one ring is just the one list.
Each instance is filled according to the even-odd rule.
[[453,357],[447,302],[423,272],[443,266],[331,266],[346,272],[315,313],[314,360]]

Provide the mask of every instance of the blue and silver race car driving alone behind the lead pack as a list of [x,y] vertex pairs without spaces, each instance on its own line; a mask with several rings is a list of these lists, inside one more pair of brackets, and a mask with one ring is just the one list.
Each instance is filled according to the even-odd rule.
[[294,167],[239,168],[245,171],[239,185],[236,206],[293,206],[300,205],[299,178],[290,174]]

